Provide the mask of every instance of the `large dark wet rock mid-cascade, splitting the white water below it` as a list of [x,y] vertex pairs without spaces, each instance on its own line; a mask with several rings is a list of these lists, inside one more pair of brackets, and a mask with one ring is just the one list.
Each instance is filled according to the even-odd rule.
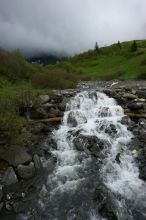
[[94,156],[99,156],[99,152],[104,147],[104,142],[96,136],[79,135],[73,140],[74,146],[79,151],[91,153]]

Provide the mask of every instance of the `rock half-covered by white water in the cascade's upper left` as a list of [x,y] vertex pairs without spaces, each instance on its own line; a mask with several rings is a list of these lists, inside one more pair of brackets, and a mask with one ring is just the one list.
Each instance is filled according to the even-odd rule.
[[81,112],[70,112],[67,122],[71,127],[76,127],[78,124],[86,123],[87,119]]

